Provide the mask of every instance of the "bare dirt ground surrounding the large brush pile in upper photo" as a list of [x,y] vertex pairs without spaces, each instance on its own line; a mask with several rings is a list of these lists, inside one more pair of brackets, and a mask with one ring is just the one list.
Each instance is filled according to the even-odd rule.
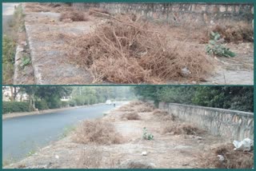
[[[26,6],[24,4],[23,6]],[[26,9],[26,7],[25,7]],[[34,76],[36,84],[115,84],[98,80],[97,75],[82,68],[67,57],[68,42],[71,38],[90,33],[98,24],[108,22],[105,17],[98,17],[84,12],[87,21],[60,21],[60,10],[49,7],[47,10],[37,11],[26,9],[26,34],[30,44]],[[36,12],[35,12],[36,11]],[[166,27],[166,37],[174,43],[186,43],[195,46],[202,52],[206,49],[201,30],[187,30],[181,27]],[[254,43],[240,42],[226,43],[226,47],[233,50],[235,58],[210,57],[214,69],[202,82],[193,79],[179,78],[161,84],[239,84],[250,85],[254,82]],[[159,82],[160,84],[160,82]]]

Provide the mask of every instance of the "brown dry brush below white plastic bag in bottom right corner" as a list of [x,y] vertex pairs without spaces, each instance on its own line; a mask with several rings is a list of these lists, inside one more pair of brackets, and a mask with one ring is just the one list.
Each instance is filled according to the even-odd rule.
[[[218,155],[224,157],[219,161]],[[220,145],[202,156],[202,167],[217,169],[251,169],[254,167],[254,152],[234,151],[234,145]]]

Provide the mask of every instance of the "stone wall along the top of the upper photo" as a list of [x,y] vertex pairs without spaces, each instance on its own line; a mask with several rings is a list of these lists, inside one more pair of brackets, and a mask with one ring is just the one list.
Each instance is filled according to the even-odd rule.
[[108,10],[110,13],[134,13],[168,23],[193,22],[198,25],[243,21],[254,18],[253,4],[209,3],[73,3],[77,10],[91,7]]

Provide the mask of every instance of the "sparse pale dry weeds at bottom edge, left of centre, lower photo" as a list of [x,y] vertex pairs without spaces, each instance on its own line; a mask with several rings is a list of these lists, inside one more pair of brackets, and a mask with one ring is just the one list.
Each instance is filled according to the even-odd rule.
[[102,150],[98,146],[87,147],[82,150],[78,159],[78,169],[97,169],[102,164]]

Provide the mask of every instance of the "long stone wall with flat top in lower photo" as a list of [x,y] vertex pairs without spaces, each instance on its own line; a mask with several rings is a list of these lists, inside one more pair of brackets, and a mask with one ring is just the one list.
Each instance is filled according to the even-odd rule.
[[254,113],[165,102],[159,103],[159,109],[167,109],[182,120],[231,141],[246,137],[254,139]]

